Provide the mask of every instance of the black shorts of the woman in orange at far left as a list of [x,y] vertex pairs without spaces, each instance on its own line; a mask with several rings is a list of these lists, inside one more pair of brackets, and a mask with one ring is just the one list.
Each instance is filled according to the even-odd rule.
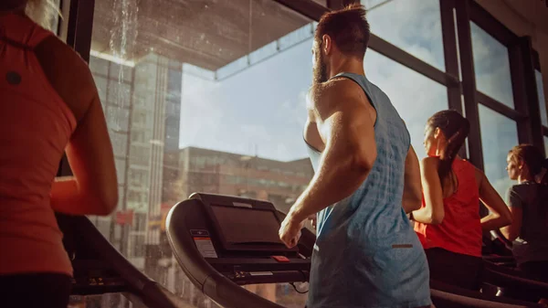
[[0,306],[67,308],[70,281],[58,273],[0,275]]

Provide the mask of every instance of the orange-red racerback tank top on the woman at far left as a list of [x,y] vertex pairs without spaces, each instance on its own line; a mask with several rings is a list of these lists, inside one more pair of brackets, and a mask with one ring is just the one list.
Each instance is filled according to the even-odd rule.
[[76,121],[33,51],[51,35],[0,14],[0,275],[72,275],[49,193]]

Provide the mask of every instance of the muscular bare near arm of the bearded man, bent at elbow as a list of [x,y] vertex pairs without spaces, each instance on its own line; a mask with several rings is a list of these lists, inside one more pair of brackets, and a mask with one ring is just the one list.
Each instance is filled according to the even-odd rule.
[[[320,165],[310,185],[290,208],[286,224],[298,226],[310,215],[351,196],[376,159],[374,120],[367,109],[373,107],[366,105],[369,102],[364,91],[352,81],[333,82],[314,99],[318,131],[325,142]],[[282,240],[290,243],[282,230]]]

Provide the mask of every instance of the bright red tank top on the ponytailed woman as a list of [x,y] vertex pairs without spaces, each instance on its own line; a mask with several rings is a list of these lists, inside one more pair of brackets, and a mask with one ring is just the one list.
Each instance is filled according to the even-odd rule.
[[[482,231],[479,218],[479,188],[475,167],[465,160],[452,165],[457,176],[457,191],[443,199],[445,216],[439,225],[416,222],[415,231],[425,250],[442,248],[481,257]],[[425,207],[423,197],[422,207]]]

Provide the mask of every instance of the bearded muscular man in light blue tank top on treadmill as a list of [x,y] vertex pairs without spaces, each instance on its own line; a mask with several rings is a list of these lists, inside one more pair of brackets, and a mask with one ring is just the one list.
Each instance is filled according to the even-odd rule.
[[297,244],[317,214],[309,308],[431,304],[424,250],[406,212],[420,207],[418,161],[406,124],[365,78],[369,25],[361,5],[321,17],[304,139],[315,175],[279,229]]

